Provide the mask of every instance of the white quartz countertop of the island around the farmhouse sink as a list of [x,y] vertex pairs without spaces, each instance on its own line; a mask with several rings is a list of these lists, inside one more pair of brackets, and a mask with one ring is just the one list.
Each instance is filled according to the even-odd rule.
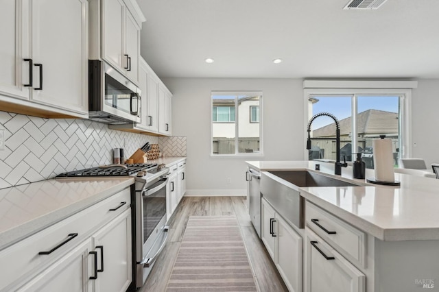
[[[333,163],[318,161],[248,161],[259,171],[310,170],[333,175]],[[366,169],[366,178],[374,171]],[[369,184],[342,168],[333,177],[360,186],[300,188],[300,194],[353,226],[383,241],[439,240],[439,180],[395,173],[400,186]],[[306,210],[305,210],[306,212]]]

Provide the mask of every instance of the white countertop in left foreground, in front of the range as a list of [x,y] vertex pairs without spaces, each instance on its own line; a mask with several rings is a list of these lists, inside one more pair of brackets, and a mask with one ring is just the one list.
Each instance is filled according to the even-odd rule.
[[134,178],[43,180],[0,189],[0,250],[134,184]]

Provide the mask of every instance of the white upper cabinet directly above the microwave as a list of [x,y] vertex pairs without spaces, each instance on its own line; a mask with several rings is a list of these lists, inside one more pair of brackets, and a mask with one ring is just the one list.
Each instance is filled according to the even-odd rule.
[[139,85],[140,31],[145,21],[139,5],[135,0],[91,0],[90,5],[90,58],[105,60]]

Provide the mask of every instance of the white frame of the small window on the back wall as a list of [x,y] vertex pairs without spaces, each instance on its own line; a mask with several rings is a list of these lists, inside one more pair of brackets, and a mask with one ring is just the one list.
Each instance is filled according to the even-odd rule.
[[[233,122],[217,122],[213,121],[213,96],[214,95],[235,95],[235,121]],[[250,152],[250,153],[240,153],[239,152],[239,103],[238,96],[239,95],[254,95],[259,96],[259,151],[258,152]],[[210,156],[213,158],[261,158],[263,157],[263,92],[261,90],[254,91],[239,91],[239,90],[230,90],[230,91],[211,91],[211,154]],[[250,114],[251,115],[251,114]],[[235,154],[214,154],[213,153],[213,125],[214,123],[235,123]]]

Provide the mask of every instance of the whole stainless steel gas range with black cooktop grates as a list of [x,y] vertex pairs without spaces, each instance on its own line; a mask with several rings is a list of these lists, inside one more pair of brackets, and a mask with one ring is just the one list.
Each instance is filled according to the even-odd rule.
[[165,247],[166,186],[169,169],[152,163],[136,165],[104,165],[79,171],[61,173],[56,178],[134,177],[132,188],[133,283],[142,287],[158,254]]

